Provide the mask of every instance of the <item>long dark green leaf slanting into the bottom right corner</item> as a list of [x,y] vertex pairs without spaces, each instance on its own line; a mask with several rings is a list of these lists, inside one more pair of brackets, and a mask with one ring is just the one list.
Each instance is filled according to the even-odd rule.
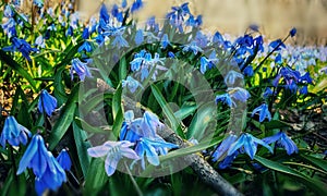
[[269,168],[271,170],[275,170],[277,172],[291,175],[293,177],[296,177],[296,180],[301,181],[303,184],[307,185],[312,188],[317,195],[322,195],[322,193],[325,193],[326,184],[324,184],[320,181],[317,181],[315,179],[307,177],[306,175],[302,174],[301,172],[293,170],[289,167],[286,167],[279,162],[275,162],[268,159],[265,159],[263,157],[255,156],[254,160],[258,161],[266,168]]

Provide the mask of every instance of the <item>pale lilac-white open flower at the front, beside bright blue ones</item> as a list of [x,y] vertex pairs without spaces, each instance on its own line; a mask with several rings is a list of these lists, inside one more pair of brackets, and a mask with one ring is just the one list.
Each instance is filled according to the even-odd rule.
[[123,158],[130,159],[140,159],[136,152],[131,148],[134,146],[134,143],[129,140],[121,142],[106,142],[101,146],[96,146],[87,149],[87,152],[90,157],[105,157],[105,169],[108,176],[112,175],[116,171],[118,162]]

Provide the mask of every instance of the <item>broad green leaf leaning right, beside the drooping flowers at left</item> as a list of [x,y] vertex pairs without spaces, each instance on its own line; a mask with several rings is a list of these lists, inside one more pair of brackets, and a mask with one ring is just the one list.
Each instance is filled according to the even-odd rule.
[[53,150],[59,140],[63,137],[72,121],[74,120],[74,113],[76,109],[76,102],[78,98],[78,85],[75,86],[69,96],[65,106],[62,108],[62,113],[56,121],[52,127],[51,135],[49,137],[49,149]]

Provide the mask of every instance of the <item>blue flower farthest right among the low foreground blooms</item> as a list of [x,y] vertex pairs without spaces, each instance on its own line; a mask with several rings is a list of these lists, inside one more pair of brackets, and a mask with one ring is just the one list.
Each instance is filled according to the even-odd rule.
[[292,155],[293,152],[299,151],[295,143],[283,132],[278,132],[276,135],[270,137],[263,138],[263,142],[266,144],[271,144],[277,142],[277,146],[281,146],[287,150],[288,155]]

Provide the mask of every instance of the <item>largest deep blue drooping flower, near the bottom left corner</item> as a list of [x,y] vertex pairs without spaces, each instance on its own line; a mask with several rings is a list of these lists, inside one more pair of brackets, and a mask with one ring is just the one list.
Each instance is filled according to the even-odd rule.
[[35,189],[41,195],[46,189],[56,191],[66,181],[62,167],[55,159],[52,154],[47,150],[44,138],[36,134],[24,152],[16,174],[23,173],[26,168],[33,170],[35,174]]

